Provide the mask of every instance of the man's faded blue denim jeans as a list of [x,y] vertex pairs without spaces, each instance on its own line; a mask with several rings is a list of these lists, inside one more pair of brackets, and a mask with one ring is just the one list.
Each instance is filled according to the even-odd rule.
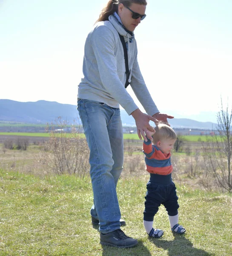
[[78,99],[77,110],[90,149],[90,177],[94,205],[90,214],[99,219],[99,230],[120,228],[121,213],[116,186],[123,170],[123,129],[120,109],[105,103]]

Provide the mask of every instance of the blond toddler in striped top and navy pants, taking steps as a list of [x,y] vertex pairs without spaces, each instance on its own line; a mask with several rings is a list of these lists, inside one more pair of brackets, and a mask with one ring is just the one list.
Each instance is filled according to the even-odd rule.
[[153,220],[158,212],[160,204],[166,208],[171,230],[174,233],[183,234],[186,229],[178,224],[178,196],[175,184],[172,182],[171,153],[177,139],[175,131],[166,124],[159,123],[155,127],[153,145],[147,138],[143,142],[146,170],[150,173],[145,196],[145,209],[143,212],[143,224],[146,233],[150,237],[160,238],[163,230],[153,228]]

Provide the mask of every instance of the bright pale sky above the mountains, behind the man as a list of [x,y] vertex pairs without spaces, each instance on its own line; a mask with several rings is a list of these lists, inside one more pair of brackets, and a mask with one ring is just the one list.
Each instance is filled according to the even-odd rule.
[[[0,99],[75,105],[85,39],[106,2],[0,0]],[[231,102],[231,13],[231,0],[148,1],[135,37],[161,112],[191,118],[218,111],[220,96]]]

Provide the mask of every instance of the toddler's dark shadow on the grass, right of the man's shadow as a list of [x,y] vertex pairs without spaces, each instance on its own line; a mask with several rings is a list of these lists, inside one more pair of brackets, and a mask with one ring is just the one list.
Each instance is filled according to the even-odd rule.
[[185,238],[184,235],[180,236],[174,234],[174,240],[167,241],[164,239],[152,239],[151,242],[158,248],[168,251],[169,256],[183,256],[183,255],[194,255],[194,256],[214,256],[215,254],[207,253],[205,250],[201,250],[193,247],[191,241]]

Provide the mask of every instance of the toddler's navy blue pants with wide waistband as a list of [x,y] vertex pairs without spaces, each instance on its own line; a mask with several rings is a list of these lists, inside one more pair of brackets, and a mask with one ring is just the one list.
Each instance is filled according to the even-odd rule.
[[143,212],[144,221],[154,220],[160,204],[163,204],[169,216],[178,214],[178,196],[176,194],[175,183],[172,182],[171,174],[151,174],[146,189],[145,209]]

